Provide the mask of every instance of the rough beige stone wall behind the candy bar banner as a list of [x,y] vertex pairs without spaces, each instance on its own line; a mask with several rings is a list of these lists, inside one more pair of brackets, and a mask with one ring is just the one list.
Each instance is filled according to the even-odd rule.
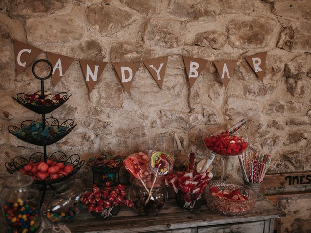
[[[176,157],[206,153],[198,125],[235,123],[247,117],[251,148],[272,155],[269,172],[311,170],[310,0],[2,0],[0,1],[0,138],[4,162],[41,148],[7,131],[37,114],[12,100],[39,89],[28,67],[15,76],[12,38],[77,59],[141,61],[169,55],[163,90],[141,63],[129,96],[111,65],[91,94],[75,61],[53,88],[72,94],[53,112],[77,128],[49,146],[82,158],[128,154],[129,129],[141,125],[176,132]],[[260,83],[244,57],[268,51]],[[208,62],[189,89],[181,55],[239,59],[227,90]],[[45,55],[40,55],[45,57]],[[218,171],[219,161],[214,166]],[[231,177],[241,177],[230,160]],[[88,178],[88,168],[80,176]]]

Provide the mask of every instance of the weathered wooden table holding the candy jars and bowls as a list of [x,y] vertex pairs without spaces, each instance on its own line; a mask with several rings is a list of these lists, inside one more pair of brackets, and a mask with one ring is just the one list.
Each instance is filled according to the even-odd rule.
[[84,208],[66,226],[72,233],[273,233],[275,219],[284,216],[267,199],[256,202],[254,211],[246,216],[226,217],[211,212],[205,201],[191,213],[170,198],[157,216],[138,216],[132,209],[122,207],[117,216],[99,220]]

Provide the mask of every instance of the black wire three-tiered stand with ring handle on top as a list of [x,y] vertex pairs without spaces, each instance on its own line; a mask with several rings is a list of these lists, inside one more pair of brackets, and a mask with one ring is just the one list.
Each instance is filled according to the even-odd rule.
[[[39,62],[45,62],[49,65],[50,67],[50,74],[44,78],[41,78],[35,74],[35,65]],[[41,81],[41,98],[45,100],[45,92],[44,92],[44,80],[50,78],[52,76],[53,72],[53,67],[52,64],[45,60],[45,59],[40,59],[35,61],[33,67],[32,67],[32,72],[33,75],[35,76],[36,79],[39,79]],[[43,146],[43,153],[37,152],[32,154],[28,159],[24,158],[22,156],[17,156],[15,157],[11,162],[5,163],[5,167],[10,172],[11,174],[17,170],[22,169],[26,164],[29,162],[40,162],[44,161],[47,162],[48,159],[54,161],[54,162],[60,162],[63,163],[64,165],[71,165],[73,166],[72,172],[70,172],[67,175],[60,174],[58,178],[52,179],[52,175],[46,177],[44,180],[40,179],[37,177],[35,179],[35,184],[42,185],[41,191],[42,191],[42,196],[41,196],[41,201],[40,201],[40,206],[43,203],[45,193],[48,187],[50,187],[52,190],[55,190],[55,188],[52,186],[52,184],[59,183],[61,181],[64,181],[68,179],[69,177],[73,176],[77,171],[83,166],[84,160],[80,161],[80,157],[77,154],[71,155],[71,156],[66,156],[65,153],[61,151],[57,151],[52,153],[50,156],[47,156],[47,146],[51,145],[59,140],[61,140],[63,137],[65,137],[68,133],[70,133],[74,127],[76,126],[74,124],[74,121],[72,119],[68,119],[64,121],[63,123],[59,123],[59,121],[54,118],[53,116],[49,118],[45,118],[45,115],[47,113],[52,112],[56,108],[60,107],[63,105],[71,96],[68,96],[66,92],[61,92],[59,94],[59,99],[60,101],[56,102],[55,104],[38,104],[38,105],[33,105],[31,103],[28,103],[26,101],[27,94],[24,93],[19,93],[17,94],[17,98],[13,98],[16,100],[19,104],[23,105],[24,107],[42,115],[42,124],[40,122],[40,127],[37,130],[41,130],[40,133],[36,132],[28,132],[27,129],[30,129],[30,127],[36,127],[36,124],[38,122],[35,122],[33,120],[26,120],[21,123],[20,128],[16,126],[10,125],[8,127],[9,133],[13,134],[16,136],[18,139],[23,140],[27,143],[31,143],[34,145],[38,146]],[[49,128],[46,127],[54,127],[56,128],[55,132],[53,131],[48,131]],[[44,130],[46,131],[44,132]],[[47,130],[48,129],[48,130]],[[26,131],[26,133],[25,133]],[[47,133],[48,132],[48,133]],[[52,132],[52,133],[51,133]],[[56,173],[57,174],[57,173]]]

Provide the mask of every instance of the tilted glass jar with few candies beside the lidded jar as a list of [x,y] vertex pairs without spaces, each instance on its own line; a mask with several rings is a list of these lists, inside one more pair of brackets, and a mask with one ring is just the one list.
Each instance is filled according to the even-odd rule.
[[82,180],[70,180],[59,186],[47,208],[46,217],[52,223],[67,223],[82,209],[81,197],[84,192]]

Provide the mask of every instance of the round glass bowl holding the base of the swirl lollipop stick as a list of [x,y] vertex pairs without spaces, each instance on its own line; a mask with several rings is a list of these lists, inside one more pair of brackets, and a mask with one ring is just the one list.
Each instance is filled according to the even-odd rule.
[[[151,189],[151,184],[146,184]],[[133,209],[139,215],[155,215],[163,209],[167,201],[167,191],[164,183],[157,179],[152,189],[151,197],[148,200],[149,193],[143,187],[140,180],[132,184],[129,190],[129,200],[133,202]],[[148,200],[148,201],[147,201]]]

